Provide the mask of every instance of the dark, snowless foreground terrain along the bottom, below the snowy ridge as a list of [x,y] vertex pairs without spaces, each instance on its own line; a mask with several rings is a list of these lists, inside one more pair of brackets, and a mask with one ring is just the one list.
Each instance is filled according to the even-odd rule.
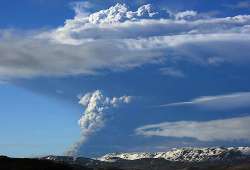
[[102,162],[88,158],[62,161],[1,156],[0,170],[250,170],[250,159],[226,162],[175,162],[164,159]]

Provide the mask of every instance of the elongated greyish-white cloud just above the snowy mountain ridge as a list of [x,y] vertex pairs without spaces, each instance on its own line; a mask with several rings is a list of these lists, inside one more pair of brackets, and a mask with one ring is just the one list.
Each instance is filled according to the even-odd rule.
[[250,116],[211,120],[179,121],[145,125],[135,130],[137,135],[189,137],[200,141],[250,140]]

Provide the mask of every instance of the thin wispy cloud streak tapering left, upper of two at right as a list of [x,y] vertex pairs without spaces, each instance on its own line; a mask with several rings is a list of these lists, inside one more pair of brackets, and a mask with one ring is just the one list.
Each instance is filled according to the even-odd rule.
[[184,106],[195,105],[207,109],[234,109],[250,106],[250,92],[238,92],[216,96],[202,96],[194,98],[190,101],[175,102],[161,105],[168,106]]

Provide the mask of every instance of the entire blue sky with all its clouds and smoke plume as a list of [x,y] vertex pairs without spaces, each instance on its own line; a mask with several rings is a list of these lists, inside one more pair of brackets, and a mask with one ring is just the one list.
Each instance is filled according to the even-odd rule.
[[0,154],[250,145],[250,1],[0,3]]

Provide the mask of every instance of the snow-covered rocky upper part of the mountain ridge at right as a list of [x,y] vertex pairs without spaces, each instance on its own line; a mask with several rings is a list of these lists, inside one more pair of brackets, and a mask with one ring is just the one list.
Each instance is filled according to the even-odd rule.
[[115,162],[116,160],[137,160],[143,158],[162,158],[169,161],[220,161],[238,160],[250,157],[250,147],[211,147],[211,148],[181,148],[168,152],[132,152],[132,153],[110,153],[98,160]]

